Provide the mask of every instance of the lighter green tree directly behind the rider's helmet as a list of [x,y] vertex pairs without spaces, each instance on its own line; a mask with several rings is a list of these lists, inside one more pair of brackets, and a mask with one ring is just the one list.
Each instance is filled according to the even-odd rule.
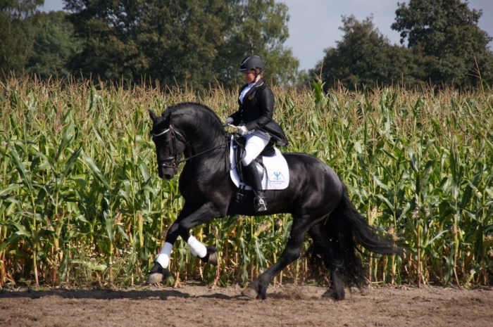
[[283,45],[289,37],[287,6],[274,0],[240,0],[230,4],[227,41],[218,49],[216,78],[225,86],[236,86],[239,61],[249,53],[260,56],[266,66],[264,79],[272,84],[293,84],[299,60]]

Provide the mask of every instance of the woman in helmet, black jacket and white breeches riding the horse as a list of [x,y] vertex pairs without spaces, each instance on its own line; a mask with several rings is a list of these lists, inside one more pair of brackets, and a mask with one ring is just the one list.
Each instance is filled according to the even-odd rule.
[[273,120],[274,94],[263,82],[262,59],[255,55],[245,56],[239,64],[239,71],[243,72],[246,84],[239,89],[239,109],[226,118],[225,126],[239,125],[238,133],[246,139],[242,164],[246,167],[256,194],[255,210],[260,212],[267,210],[267,204],[261,176],[253,161],[266,148],[270,139],[277,146],[285,146],[288,142],[279,124]]

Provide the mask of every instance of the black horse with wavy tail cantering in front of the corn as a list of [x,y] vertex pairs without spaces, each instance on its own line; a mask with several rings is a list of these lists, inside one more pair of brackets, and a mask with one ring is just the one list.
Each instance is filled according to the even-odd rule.
[[[258,215],[254,193],[247,191],[242,203],[235,201],[237,186],[230,179],[228,135],[218,116],[199,103],[180,103],[167,108],[161,116],[152,110],[152,140],[156,144],[158,174],[172,179],[182,154],[185,166],[180,175],[180,192],[185,205],[170,226],[166,243],[173,245],[178,236],[185,241],[190,229],[225,215]],[[363,267],[357,257],[356,242],[371,252],[397,253],[389,238],[377,236],[351,204],[347,188],[324,162],[305,153],[284,153],[289,167],[289,186],[282,191],[266,191],[268,210],[262,215],[290,213],[291,234],[279,260],[252,281],[242,292],[253,298],[266,298],[273,278],[298,259],[304,236],[313,239],[313,257],[323,260],[330,269],[332,285],[325,296],[344,299],[342,278],[349,283],[364,283]],[[327,218],[328,217],[328,218]],[[216,249],[207,248],[204,262],[217,264]],[[149,283],[166,274],[155,262]]]

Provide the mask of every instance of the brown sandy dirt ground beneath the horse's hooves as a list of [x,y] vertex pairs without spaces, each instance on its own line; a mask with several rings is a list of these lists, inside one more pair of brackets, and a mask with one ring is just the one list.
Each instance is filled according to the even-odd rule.
[[267,300],[239,287],[0,290],[0,326],[493,326],[493,290],[275,286]]

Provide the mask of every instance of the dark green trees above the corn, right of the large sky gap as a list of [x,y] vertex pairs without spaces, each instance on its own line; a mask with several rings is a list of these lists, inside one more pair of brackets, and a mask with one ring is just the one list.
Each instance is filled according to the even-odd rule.
[[375,29],[372,18],[359,22],[343,17],[342,41],[325,49],[310,75],[322,78],[325,90],[339,83],[356,89],[377,85],[456,88],[493,84],[492,40],[478,27],[482,11],[461,0],[411,0],[398,4],[392,29],[401,32],[404,46],[391,45]]

